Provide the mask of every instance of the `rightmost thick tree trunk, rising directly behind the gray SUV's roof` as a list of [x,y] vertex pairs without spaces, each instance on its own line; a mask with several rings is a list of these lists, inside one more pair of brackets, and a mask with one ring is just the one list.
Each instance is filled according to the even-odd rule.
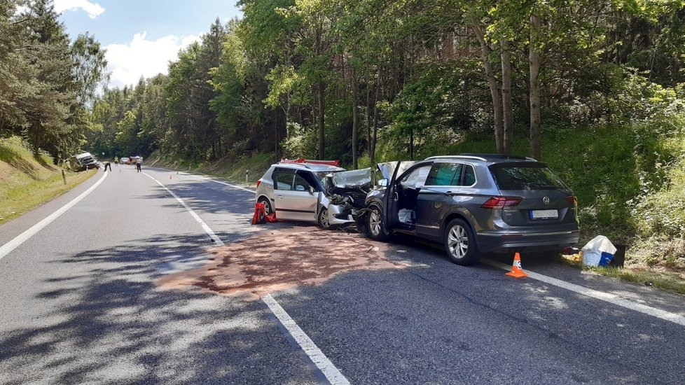
[[537,15],[530,15],[530,45],[528,46],[528,62],[530,64],[530,156],[540,158],[540,52],[537,47],[537,34],[540,19]]

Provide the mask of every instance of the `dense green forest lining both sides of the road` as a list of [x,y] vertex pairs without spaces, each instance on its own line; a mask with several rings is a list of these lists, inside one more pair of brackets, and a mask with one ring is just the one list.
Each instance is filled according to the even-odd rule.
[[[94,36],[0,0],[0,140],[265,169],[527,155],[579,197],[583,239],[685,272],[685,3],[242,0],[168,74],[108,88]],[[104,88],[102,88],[104,86]]]

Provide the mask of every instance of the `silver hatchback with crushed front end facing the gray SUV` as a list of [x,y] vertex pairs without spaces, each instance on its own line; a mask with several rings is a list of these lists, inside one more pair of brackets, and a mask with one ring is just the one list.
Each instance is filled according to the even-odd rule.
[[281,162],[257,181],[255,199],[266,214],[287,221],[318,223],[321,228],[354,223],[371,190],[371,169]]

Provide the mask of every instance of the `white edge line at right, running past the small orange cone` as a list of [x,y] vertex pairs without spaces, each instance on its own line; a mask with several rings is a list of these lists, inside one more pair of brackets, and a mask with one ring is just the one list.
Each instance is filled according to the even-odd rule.
[[[504,263],[495,262],[494,260],[488,260],[485,258],[482,259],[481,262],[485,263],[486,265],[499,267],[500,269],[504,270],[508,270],[511,268],[511,266],[505,265]],[[625,300],[621,297],[618,297],[618,295],[604,293],[599,290],[593,290],[591,288],[586,288],[584,286],[575,285],[574,283],[569,283],[566,281],[562,281],[560,279],[552,278],[551,276],[531,272],[530,270],[525,270],[525,272],[532,279],[537,279],[538,281],[549,283],[550,285],[558,286],[560,288],[565,288],[566,290],[571,290],[575,293],[587,295],[588,297],[593,297],[597,300],[602,300],[605,302],[609,302],[611,304],[616,304],[618,306],[625,307],[626,309],[639,311],[640,313],[647,314],[649,316],[661,318],[664,321],[670,321],[672,323],[677,323],[679,325],[685,326],[685,316],[674,314],[670,311],[657,309],[656,307],[646,306],[644,304],[639,304],[636,302]]]

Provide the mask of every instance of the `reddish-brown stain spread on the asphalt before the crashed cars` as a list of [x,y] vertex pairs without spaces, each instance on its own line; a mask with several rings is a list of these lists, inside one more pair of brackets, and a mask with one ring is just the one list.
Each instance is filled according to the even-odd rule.
[[258,300],[278,290],[318,285],[343,272],[406,267],[383,257],[386,249],[385,244],[347,232],[311,227],[270,230],[212,248],[214,256],[204,267],[170,274],[156,284]]

